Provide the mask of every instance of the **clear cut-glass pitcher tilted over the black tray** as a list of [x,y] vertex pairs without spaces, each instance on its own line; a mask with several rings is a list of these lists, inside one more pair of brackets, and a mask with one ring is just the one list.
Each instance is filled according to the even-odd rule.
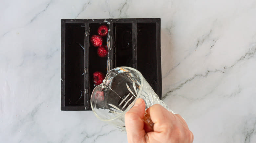
[[118,67],[109,71],[103,83],[94,88],[91,107],[97,118],[125,131],[124,115],[138,98],[145,101],[146,109],[154,104],[168,109],[138,70]]

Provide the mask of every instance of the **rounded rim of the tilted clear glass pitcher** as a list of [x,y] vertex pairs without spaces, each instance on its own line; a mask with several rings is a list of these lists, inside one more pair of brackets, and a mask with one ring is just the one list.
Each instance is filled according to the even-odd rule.
[[[93,111],[93,113],[95,114],[95,116],[96,116],[98,119],[102,120],[102,121],[112,121],[112,120],[115,120],[115,119],[117,119],[117,118],[123,116],[124,114],[126,114],[126,112],[129,111],[129,110],[134,106],[135,102],[136,102],[137,99],[140,97],[140,94],[141,94],[142,89],[143,89],[144,77],[142,76],[142,74],[141,74],[138,70],[136,70],[136,69],[134,69],[134,68],[131,68],[131,67],[125,67],[125,66],[117,67],[117,68],[128,68],[128,69],[131,69],[131,70],[135,70],[136,72],[139,73],[139,77],[141,78],[141,85],[140,85],[140,88],[139,88],[139,93],[138,93],[138,96],[134,99],[134,101],[123,111],[123,113],[121,113],[121,114],[119,114],[118,116],[116,116],[116,117],[114,117],[114,118],[111,118],[111,119],[102,119],[102,118],[100,118],[100,117],[96,114],[96,112],[95,112],[95,110],[94,110],[94,108],[93,108],[93,105],[92,105],[92,97],[91,97],[90,103],[91,103],[92,111]],[[114,69],[117,69],[117,68],[114,68]],[[112,69],[112,70],[114,70],[114,69]],[[112,70],[110,70],[110,71],[112,71]],[[110,72],[110,71],[109,71],[109,72]],[[102,83],[101,83],[101,84],[102,84]],[[101,84],[100,84],[100,85],[101,85]],[[98,85],[98,86],[100,86],[100,85]],[[97,86],[96,86],[96,87],[97,87]],[[95,87],[95,88],[96,88],[96,87]],[[94,92],[95,88],[93,89],[93,92]],[[91,95],[91,96],[92,96],[92,95]]]

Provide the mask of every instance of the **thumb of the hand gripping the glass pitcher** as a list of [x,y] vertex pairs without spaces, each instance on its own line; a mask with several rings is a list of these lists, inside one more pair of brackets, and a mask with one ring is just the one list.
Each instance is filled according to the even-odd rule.
[[144,123],[145,102],[138,98],[134,106],[125,114],[125,128],[129,143],[145,142]]

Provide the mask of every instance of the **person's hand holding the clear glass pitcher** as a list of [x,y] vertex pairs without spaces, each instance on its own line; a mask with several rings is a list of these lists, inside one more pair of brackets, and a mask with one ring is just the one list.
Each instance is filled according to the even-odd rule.
[[138,99],[135,105],[125,114],[125,127],[129,143],[192,143],[193,133],[188,129],[185,120],[178,114],[172,114],[160,104],[148,108],[154,129],[147,126],[142,118],[145,113],[145,102]]

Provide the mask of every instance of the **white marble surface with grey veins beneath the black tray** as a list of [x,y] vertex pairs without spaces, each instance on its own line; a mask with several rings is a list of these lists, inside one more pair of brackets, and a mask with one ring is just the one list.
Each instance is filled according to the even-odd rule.
[[256,142],[256,1],[1,1],[0,142],[127,142],[60,111],[61,18],[161,18],[162,93],[195,143]]

